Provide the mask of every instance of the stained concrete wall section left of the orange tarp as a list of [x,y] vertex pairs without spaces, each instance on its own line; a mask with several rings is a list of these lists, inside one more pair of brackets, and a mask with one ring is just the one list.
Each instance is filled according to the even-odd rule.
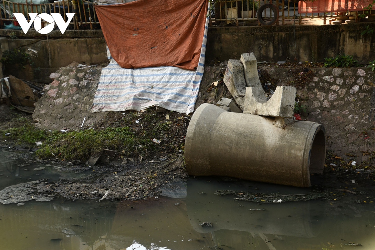
[[[5,73],[12,74],[24,80],[50,83],[49,74],[76,61],[81,64],[107,63],[106,43],[101,30],[66,31],[64,36],[52,31],[47,37],[39,33],[12,30],[18,39],[9,39],[9,49],[21,48],[33,49],[37,53],[29,51],[33,64],[26,69],[7,68]],[[9,30],[0,30],[0,34],[9,35]],[[34,34],[35,33],[35,34]],[[30,38],[30,36],[37,38]],[[5,43],[1,43],[1,48]],[[35,70],[36,69],[36,70]]]

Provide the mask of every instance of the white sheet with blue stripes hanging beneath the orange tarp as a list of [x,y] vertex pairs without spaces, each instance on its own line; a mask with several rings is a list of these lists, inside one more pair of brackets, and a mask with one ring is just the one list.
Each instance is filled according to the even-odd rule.
[[143,110],[152,106],[193,112],[204,71],[207,28],[208,18],[196,71],[177,67],[121,68],[107,49],[110,64],[102,70],[91,112]]

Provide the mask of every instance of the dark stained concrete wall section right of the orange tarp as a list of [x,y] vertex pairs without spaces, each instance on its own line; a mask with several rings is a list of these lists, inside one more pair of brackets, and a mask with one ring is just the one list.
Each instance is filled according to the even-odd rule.
[[368,63],[375,59],[375,33],[361,36],[367,25],[210,27],[206,60],[239,59],[243,53],[254,52],[258,61],[289,57],[291,62],[322,62],[345,53]]

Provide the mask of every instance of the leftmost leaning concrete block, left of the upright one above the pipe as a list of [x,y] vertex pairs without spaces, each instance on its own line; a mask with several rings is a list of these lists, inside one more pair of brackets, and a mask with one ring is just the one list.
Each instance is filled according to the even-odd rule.
[[240,60],[229,60],[223,79],[226,87],[241,109],[243,109],[246,94],[243,70],[243,65]]

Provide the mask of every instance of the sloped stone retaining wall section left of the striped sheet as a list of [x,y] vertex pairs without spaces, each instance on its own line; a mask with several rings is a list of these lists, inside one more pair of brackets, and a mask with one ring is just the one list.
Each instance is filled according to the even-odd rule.
[[33,119],[37,128],[60,130],[78,128],[104,119],[108,112],[90,113],[101,67],[65,67],[51,74],[42,98],[36,103]]

